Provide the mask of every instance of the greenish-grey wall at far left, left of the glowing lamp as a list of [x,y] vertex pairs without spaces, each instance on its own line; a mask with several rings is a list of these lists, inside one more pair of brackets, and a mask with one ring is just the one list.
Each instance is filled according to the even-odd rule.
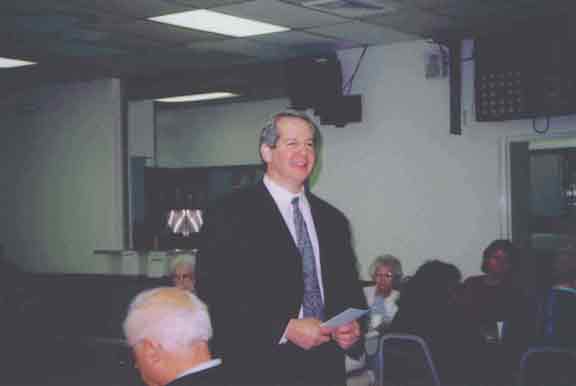
[[51,85],[0,101],[0,242],[32,271],[105,272],[122,248],[117,80]]

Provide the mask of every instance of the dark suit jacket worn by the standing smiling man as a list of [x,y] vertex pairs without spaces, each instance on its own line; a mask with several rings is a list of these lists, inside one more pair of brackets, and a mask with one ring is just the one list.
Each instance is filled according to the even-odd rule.
[[[344,215],[308,194],[318,234],[327,318],[365,307]],[[302,261],[263,182],[207,210],[197,290],[212,315],[212,349],[223,371],[246,383],[344,384],[344,355],[279,344],[302,303]]]

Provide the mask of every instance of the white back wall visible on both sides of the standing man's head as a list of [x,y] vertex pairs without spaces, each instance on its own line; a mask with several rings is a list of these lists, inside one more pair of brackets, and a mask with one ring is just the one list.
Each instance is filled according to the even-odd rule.
[[[530,121],[473,122],[473,63],[465,64],[463,134],[449,134],[448,79],[425,78],[418,41],[368,49],[352,93],[363,96],[361,123],[322,127],[313,190],[341,208],[353,226],[363,274],[377,254],[399,256],[408,274],[429,258],[479,272],[483,248],[508,237],[506,163],[509,137],[533,137]],[[341,52],[345,78],[360,50]],[[467,54],[467,53],[465,53]],[[161,113],[161,164],[206,166],[256,162],[259,128],[284,99]],[[554,119],[547,136],[576,127]]]

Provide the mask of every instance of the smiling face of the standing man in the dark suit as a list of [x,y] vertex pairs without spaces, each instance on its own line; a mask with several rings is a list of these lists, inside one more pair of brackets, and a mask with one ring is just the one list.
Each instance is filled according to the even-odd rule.
[[276,127],[276,146],[262,145],[260,149],[267,164],[266,173],[274,182],[296,193],[314,169],[314,130],[297,117],[279,118]]

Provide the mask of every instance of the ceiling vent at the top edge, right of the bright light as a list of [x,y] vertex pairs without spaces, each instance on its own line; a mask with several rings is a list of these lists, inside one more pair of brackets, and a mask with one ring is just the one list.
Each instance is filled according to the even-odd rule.
[[364,17],[394,13],[400,0],[310,0],[302,5],[340,16]]

